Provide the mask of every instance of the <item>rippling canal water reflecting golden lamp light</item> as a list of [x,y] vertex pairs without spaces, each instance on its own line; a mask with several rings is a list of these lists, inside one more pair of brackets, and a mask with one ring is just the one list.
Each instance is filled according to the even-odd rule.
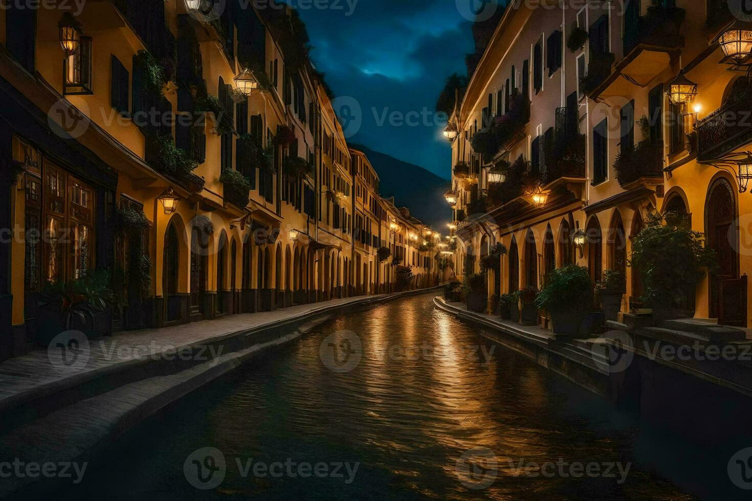
[[56,496],[690,499],[635,458],[639,433],[420,295],[253,359],[129,432]]

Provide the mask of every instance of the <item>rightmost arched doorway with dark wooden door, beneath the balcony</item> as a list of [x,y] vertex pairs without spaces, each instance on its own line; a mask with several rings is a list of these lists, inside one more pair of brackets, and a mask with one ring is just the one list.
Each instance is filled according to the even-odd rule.
[[[741,298],[731,288],[724,287],[726,280],[739,278],[738,231],[736,197],[729,182],[716,180],[708,191],[705,204],[705,235],[708,246],[717,254],[718,267],[710,276],[710,316],[726,316],[729,309],[738,309]],[[730,284],[730,282],[727,282]],[[724,294],[726,292],[726,294]],[[724,311],[726,310],[726,311]]]

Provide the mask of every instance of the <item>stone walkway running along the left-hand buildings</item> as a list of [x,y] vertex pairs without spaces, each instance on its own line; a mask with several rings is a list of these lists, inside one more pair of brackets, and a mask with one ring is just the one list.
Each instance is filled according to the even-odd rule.
[[244,332],[253,332],[316,312],[326,314],[339,306],[353,303],[368,304],[394,295],[347,297],[290,306],[272,312],[229,315],[173,327],[129,330],[117,333],[113,337],[91,340],[88,346],[84,343],[79,348],[82,358],[78,360],[71,358],[73,355],[70,352],[64,360],[62,349],[37,349],[21,357],[0,362],[0,410],[16,405],[21,397],[43,397],[59,388],[117,370],[116,366],[119,364],[129,364],[144,358],[174,356],[178,350],[201,346]]

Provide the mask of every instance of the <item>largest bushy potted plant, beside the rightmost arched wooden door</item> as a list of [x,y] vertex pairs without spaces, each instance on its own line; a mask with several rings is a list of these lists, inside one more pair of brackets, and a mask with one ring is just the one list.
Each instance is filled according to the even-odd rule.
[[640,273],[641,301],[653,309],[653,321],[691,317],[692,299],[705,274],[717,267],[705,235],[691,230],[686,216],[652,213],[632,240],[629,266]]

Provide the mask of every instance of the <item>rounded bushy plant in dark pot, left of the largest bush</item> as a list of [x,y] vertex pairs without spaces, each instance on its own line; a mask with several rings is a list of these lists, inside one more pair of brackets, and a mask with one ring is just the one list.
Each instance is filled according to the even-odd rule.
[[550,273],[547,285],[535,299],[535,306],[549,312],[553,333],[575,336],[580,332],[592,287],[586,267],[568,264]]

